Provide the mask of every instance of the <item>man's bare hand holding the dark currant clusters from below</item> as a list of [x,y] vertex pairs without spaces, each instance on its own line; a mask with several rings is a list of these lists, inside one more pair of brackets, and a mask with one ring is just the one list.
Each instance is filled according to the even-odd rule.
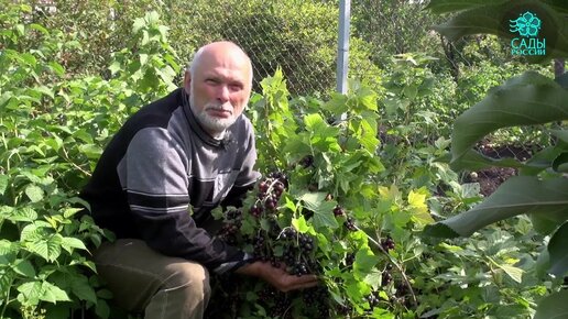
[[316,275],[290,275],[284,265],[277,268],[272,266],[269,262],[247,264],[238,268],[236,273],[260,277],[283,293],[310,288],[318,283]]

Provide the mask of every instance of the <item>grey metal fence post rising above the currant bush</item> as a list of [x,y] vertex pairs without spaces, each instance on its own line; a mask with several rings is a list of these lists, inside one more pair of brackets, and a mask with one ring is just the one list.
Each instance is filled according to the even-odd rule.
[[339,36],[337,43],[337,91],[347,94],[347,72],[349,61],[349,22],[351,0],[339,1]]

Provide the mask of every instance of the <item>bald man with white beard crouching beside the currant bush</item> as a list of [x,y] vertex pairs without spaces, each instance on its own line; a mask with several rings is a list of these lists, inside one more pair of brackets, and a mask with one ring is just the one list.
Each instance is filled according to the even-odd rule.
[[208,44],[184,87],[132,116],[100,157],[81,196],[96,222],[117,234],[94,257],[123,308],[151,319],[201,318],[209,272],[256,276],[283,292],[317,284],[204,229],[212,208],[238,204],[259,178],[252,125],[242,114],[251,88],[247,54],[231,42]]

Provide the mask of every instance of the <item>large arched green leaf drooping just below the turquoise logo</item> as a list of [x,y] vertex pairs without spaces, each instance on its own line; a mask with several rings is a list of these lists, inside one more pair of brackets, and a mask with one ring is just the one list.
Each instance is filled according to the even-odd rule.
[[568,119],[568,91],[550,78],[526,72],[490,90],[483,100],[456,119],[450,166],[470,166],[462,158],[476,142],[498,129],[565,119]]

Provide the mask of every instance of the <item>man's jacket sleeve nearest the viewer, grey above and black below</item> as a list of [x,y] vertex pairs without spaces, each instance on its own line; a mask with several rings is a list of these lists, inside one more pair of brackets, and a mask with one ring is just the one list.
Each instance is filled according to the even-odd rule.
[[143,129],[119,164],[135,228],[148,245],[165,255],[201,263],[215,273],[239,267],[250,257],[198,228],[188,212],[187,158],[168,132]]

